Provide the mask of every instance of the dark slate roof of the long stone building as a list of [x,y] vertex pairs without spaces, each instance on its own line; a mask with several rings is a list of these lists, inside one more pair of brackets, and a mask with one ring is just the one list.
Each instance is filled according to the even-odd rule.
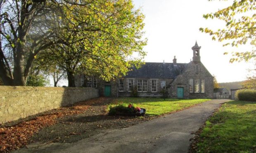
[[125,78],[154,78],[154,79],[175,79],[181,74],[187,63],[149,63],[146,62],[139,69],[133,68]]

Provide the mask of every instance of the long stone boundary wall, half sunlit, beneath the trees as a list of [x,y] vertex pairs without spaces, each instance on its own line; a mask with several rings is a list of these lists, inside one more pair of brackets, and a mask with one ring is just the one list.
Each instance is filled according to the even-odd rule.
[[0,123],[95,97],[95,88],[0,86]]

